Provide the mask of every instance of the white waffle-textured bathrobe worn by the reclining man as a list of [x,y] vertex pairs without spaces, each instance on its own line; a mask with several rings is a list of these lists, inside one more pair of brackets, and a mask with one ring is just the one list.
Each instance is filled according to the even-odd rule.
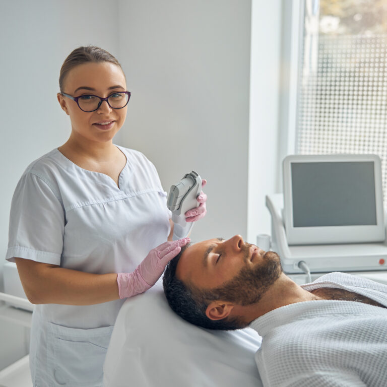
[[[339,288],[387,306],[387,286],[331,273],[306,290]],[[250,324],[263,337],[255,354],[264,386],[387,386],[387,309],[315,300],[274,309]]]

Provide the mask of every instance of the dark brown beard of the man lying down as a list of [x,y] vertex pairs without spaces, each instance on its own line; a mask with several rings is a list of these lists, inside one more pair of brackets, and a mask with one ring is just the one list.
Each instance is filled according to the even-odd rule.
[[[248,251],[245,256],[245,260],[247,259]],[[281,273],[279,255],[274,251],[267,251],[262,264],[252,268],[246,265],[233,279],[215,289],[204,290],[202,296],[207,300],[224,300],[243,306],[254,304],[260,301]]]

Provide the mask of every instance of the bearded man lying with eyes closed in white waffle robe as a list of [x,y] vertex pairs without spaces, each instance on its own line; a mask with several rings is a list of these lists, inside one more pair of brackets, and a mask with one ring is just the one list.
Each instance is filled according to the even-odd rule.
[[387,386],[387,285],[330,273],[299,286],[240,235],[184,247],[164,273],[169,305],[200,327],[254,329],[265,386]]

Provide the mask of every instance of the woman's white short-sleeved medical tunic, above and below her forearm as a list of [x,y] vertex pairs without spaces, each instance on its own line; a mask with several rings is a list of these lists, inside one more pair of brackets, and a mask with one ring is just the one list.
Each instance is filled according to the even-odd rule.
[[[12,200],[7,260],[21,257],[82,272],[132,272],[166,241],[170,212],[154,165],[126,157],[118,186],[57,149],[33,162]],[[36,386],[99,386],[123,300],[96,305],[36,305],[30,364]]]

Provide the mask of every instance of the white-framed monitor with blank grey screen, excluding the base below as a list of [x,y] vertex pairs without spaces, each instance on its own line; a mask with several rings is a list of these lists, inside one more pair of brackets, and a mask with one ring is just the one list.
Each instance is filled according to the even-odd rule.
[[382,242],[380,159],[376,155],[291,155],[283,161],[289,244]]

